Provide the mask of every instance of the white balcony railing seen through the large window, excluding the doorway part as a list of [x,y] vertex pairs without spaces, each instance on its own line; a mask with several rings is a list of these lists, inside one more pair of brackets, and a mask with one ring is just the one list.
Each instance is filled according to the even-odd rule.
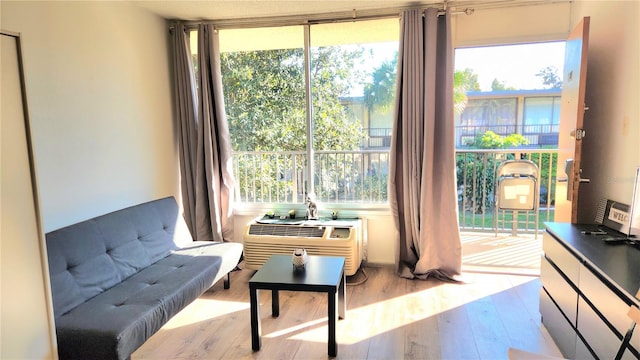
[[[303,151],[234,152],[236,198],[244,203],[303,203]],[[389,150],[316,151],[316,198],[324,203],[387,202]]]

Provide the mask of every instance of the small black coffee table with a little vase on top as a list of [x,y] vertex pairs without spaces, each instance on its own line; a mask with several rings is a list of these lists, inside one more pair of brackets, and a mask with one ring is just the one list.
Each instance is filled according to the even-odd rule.
[[271,315],[280,315],[279,290],[326,292],[329,297],[329,356],[338,353],[336,326],[338,317],[344,319],[347,305],[344,258],[309,256],[304,271],[293,271],[290,255],[272,255],[249,280],[251,301],[251,348],[260,350],[260,303],[258,290],[271,290]]

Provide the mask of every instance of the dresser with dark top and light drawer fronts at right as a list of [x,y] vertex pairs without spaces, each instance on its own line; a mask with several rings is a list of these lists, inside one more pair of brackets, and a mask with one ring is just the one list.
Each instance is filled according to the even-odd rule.
[[[540,314],[563,355],[613,359],[640,287],[640,248],[585,235],[593,226],[547,223],[541,261]],[[640,328],[624,358],[639,358]]]

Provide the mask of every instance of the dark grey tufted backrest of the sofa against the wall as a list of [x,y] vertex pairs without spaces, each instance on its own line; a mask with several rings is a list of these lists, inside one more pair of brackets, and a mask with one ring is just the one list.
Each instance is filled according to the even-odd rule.
[[173,197],[47,233],[55,316],[67,313],[191,241]]

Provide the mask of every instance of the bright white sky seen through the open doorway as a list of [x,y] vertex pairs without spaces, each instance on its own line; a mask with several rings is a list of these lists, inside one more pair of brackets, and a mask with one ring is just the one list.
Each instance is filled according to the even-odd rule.
[[555,66],[562,77],[564,42],[456,49],[455,69],[473,69],[482,91],[490,91],[493,79],[516,89],[542,89],[535,76],[547,66]]

